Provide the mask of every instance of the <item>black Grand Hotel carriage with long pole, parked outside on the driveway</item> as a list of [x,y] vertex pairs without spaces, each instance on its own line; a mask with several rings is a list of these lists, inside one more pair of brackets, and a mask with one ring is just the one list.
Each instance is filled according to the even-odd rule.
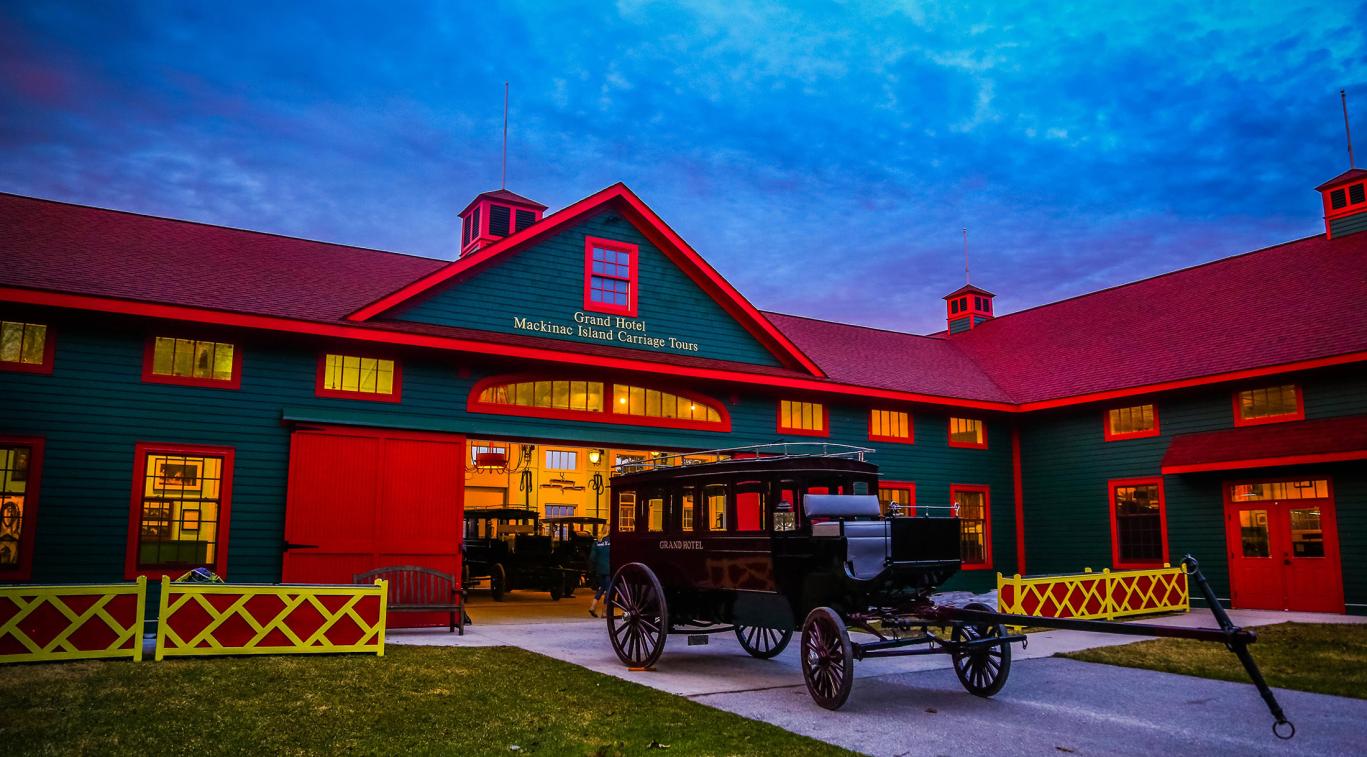
[[[998,693],[1010,674],[1010,626],[1218,641],[1244,663],[1289,738],[1271,690],[1196,562],[1188,574],[1219,629],[1178,629],[1006,615],[982,604],[947,607],[932,593],[960,568],[960,521],[950,507],[884,515],[872,450],[768,444],[711,452],[709,463],[658,458],[612,477],[612,568],[607,630],[618,659],[652,667],[670,634],[734,633],[755,657],[783,652],[801,631],[808,693],[837,709],[854,661],[949,655],[964,689]],[[938,512],[932,515],[932,512]],[[850,631],[857,634],[852,639]]]

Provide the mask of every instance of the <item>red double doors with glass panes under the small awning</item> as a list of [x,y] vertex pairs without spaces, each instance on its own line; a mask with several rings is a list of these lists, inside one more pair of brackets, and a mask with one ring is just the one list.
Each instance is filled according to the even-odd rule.
[[1234,607],[1344,612],[1326,478],[1230,484],[1225,497]]

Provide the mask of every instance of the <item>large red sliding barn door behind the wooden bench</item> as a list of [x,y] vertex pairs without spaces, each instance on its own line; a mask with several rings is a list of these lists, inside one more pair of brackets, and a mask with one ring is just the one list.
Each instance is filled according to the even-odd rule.
[[[461,575],[465,437],[325,428],[290,443],[284,581],[350,583],[388,566]],[[442,623],[399,615],[394,622]]]

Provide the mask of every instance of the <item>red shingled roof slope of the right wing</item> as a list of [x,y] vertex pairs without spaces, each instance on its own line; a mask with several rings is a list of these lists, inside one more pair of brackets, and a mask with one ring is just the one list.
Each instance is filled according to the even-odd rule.
[[1319,235],[1001,316],[946,340],[1029,406],[1367,353],[1363,302],[1367,234]]

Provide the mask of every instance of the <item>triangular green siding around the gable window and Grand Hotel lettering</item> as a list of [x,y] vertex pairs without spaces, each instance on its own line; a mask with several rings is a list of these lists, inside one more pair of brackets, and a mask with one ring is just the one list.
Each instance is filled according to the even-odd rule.
[[[664,339],[663,347],[653,350],[617,340],[528,332],[514,327],[515,317],[576,327],[574,313],[584,310],[585,236],[615,239],[640,247],[636,320],[645,322],[645,335]],[[399,307],[384,317],[756,365],[779,365],[745,327],[731,318],[664,253],[651,245],[626,219],[611,212],[599,213],[544,242],[506,256],[473,276],[439,287],[420,302]],[[610,331],[614,335],[618,332],[617,328]],[[697,344],[699,348],[671,347],[668,344],[671,336]]]

